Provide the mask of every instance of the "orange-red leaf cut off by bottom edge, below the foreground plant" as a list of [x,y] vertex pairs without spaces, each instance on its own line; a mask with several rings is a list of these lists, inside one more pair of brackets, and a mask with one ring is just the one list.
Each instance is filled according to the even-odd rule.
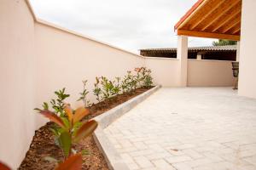
[[69,156],[67,160],[59,164],[55,170],[81,170],[82,169],[82,156],[81,154],[76,154]]

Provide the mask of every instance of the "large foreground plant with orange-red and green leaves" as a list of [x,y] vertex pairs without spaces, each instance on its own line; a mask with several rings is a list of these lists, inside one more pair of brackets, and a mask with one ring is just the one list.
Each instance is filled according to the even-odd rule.
[[42,110],[39,113],[49,118],[51,122],[55,122],[56,126],[50,130],[55,134],[55,143],[61,148],[65,159],[72,155],[73,144],[89,136],[97,127],[97,122],[94,120],[81,122],[84,116],[90,113],[84,107],[73,111],[70,105],[65,105],[65,116],[59,116],[49,110]]

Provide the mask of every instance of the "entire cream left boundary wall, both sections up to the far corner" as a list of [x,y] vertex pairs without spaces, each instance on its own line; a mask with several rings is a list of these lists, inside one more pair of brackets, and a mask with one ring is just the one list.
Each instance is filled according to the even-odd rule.
[[123,76],[144,65],[137,54],[40,24],[26,0],[1,1],[0,37],[0,161],[13,169],[46,121],[33,108],[56,89],[66,87],[76,106],[83,79],[91,90],[96,76]]

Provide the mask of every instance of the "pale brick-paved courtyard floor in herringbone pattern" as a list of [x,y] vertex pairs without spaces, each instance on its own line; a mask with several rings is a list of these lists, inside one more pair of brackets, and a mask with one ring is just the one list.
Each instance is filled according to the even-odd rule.
[[256,99],[231,88],[160,88],[104,131],[131,169],[256,169]]

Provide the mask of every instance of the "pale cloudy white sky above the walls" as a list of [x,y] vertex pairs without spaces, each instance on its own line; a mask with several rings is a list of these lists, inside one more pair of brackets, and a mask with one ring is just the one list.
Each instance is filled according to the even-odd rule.
[[[176,48],[174,25],[197,0],[31,0],[38,18],[138,53]],[[214,39],[189,37],[189,47]]]

